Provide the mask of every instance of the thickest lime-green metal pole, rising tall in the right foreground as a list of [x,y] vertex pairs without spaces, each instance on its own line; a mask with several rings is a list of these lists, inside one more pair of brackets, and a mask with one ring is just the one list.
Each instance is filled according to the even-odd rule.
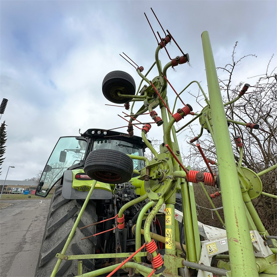
[[[248,231],[239,178],[220,93],[212,47],[207,31],[202,45],[210,97],[222,203],[232,276],[259,276]],[[246,266],[247,265],[247,266]]]

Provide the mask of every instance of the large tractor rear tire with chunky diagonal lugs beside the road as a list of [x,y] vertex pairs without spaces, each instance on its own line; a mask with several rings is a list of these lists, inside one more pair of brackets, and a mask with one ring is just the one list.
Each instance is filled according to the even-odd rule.
[[[58,260],[55,256],[57,253],[61,253],[84,203],[83,200],[64,199],[61,196],[61,191],[62,186],[58,186],[51,199],[35,276],[51,275]],[[96,227],[91,226],[83,230],[79,229],[94,222],[97,222],[95,203],[90,200],[65,254],[95,254],[96,237],[91,237],[82,241],[81,238],[95,234]],[[93,269],[94,260],[84,259],[83,273],[92,271]],[[77,260],[63,260],[56,274],[56,276],[76,275],[78,275]]]

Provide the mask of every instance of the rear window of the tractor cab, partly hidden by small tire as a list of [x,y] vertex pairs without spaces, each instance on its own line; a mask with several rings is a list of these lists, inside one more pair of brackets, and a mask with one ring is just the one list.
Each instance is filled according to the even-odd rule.
[[[141,146],[117,139],[95,139],[92,151],[98,149],[113,149],[123,152],[124,154],[143,156],[143,149]],[[134,169],[141,170],[144,167],[144,161],[142,160],[133,159],[133,163]]]

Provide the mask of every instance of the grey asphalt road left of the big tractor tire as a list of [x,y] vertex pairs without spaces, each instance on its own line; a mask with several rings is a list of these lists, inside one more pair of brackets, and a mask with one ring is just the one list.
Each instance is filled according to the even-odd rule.
[[0,210],[0,276],[35,275],[51,199],[13,200]]

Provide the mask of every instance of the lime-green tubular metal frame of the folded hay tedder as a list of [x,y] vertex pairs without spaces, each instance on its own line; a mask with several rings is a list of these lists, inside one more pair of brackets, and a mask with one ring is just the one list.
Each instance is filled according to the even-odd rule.
[[[170,160],[169,163],[166,164],[167,166],[169,166],[170,174],[168,173],[168,175],[165,175],[165,177],[163,177],[164,179],[159,183],[155,183],[156,180],[153,180],[154,182],[151,183],[151,185],[150,185],[150,182],[151,182],[151,178],[150,178],[149,186],[151,187],[152,191],[149,192],[150,188],[148,187],[149,190],[148,191],[146,190],[147,192],[145,195],[140,196],[139,198],[136,198],[128,202],[127,204],[123,205],[123,207],[121,207],[121,209],[119,210],[118,216],[119,218],[121,218],[123,216],[123,213],[128,207],[131,207],[132,205],[139,203],[141,201],[146,201],[146,204],[141,209],[141,212],[136,221],[135,247],[137,251],[139,250],[139,248],[141,248],[141,229],[142,229],[141,227],[142,227],[143,220],[145,220],[145,224],[144,224],[145,242],[149,243],[151,242],[150,228],[154,217],[159,212],[163,203],[165,203],[166,209],[174,211],[175,203],[176,203],[175,193],[179,189],[182,197],[184,235],[186,239],[186,261],[192,264],[199,263],[201,259],[201,242],[200,242],[199,229],[198,229],[198,223],[197,223],[193,186],[190,183],[188,183],[186,179],[186,173],[183,171],[181,166],[179,166],[179,164],[173,157],[174,155],[172,155],[171,153],[174,153],[178,159],[181,159],[179,155],[179,146],[178,146],[176,133],[184,129],[186,126],[188,126],[190,123],[192,123],[200,116],[203,116],[205,118],[207,128],[210,131],[210,135],[216,147],[216,155],[217,155],[216,165],[218,166],[218,172],[219,172],[219,178],[220,178],[225,222],[223,222],[217,210],[215,210],[215,212],[221,224],[226,229],[227,242],[228,242],[228,248],[229,248],[229,255],[220,254],[220,255],[217,255],[217,258],[230,260],[229,267],[231,268],[231,271],[227,272],[227,276],[243,276],[243,277],[253,276],[254,277],[254,276],[258,276],[259,274],[258,267],[260,268],[260,270],[261,268],[266,268],[266,269],[269,268],[271,266],[269,265],[269,261],[271,263],[274,257],[270,256],[271,258],[267,258],[264,260],[261,260],[261,258],[259,258],[260,260],[259,262],[257,262],[257,259],[255,259],[254,257],[253,246],[252,246],[251,237],[249,234],[249,230],[258,230],[261,235],[264,235],[265,237],[268,236],[268,233],[265,230],[265,227],[263,226],[261,219],[259,218],[256,210],[254,209],[254,206],[252,205],[248,192],[247,191],[242,192],[242,189],[240,187],[240,179],[239,179],[238,173],[241,173],[240,167],[242,166],[243,149],[242,147],[239,148],[239,162],[236,165],[233,149],[231,145],[229,130],[227,126],[227,121],[235,124],[242,124],[242,125],[246,125],[246,123],[226,119],[226,115],[224,112],[224,106],[235,102],[240,98],[240,96],[235,98],[234,100],[231,100],[226,104],[223,104],[221,93],[220,93],[220,87],[218,83],[218,76],[216,73],[216,67],[215,67],[213,53],[212,53],[212,47],[210,44],[209,35],[207,31],[204,31],[202,33],[202,46],[203,46],[205,69],[206,69],[206,75],[207,75],[209,98],[206,96],[201,85],[197,81],[190,82],[179,93],[179,95],[183,93],[190,85],[192,85],[193,83],[196,83],[200,91],[203,93],[205,102],[209,108],[209,111],[211,112],[212,119],[208,119],[207,115],[205,114],[202,115],[202,112],[201,112],[199,114],[195,114],[196,116],[193,119],[191,119],[188,123],[186,123],[183,127],[181,127],[179,130],[176,131],[175,126],[173,125],[176,121],[165,107],[165,104],[166,104],[166,106],[169,108],[169,103],[166,96],[167,82],[165,82],[165,80],[161,82],[161,87],[159,91],[160,96],[164,100],[165,104],[163,104],[160,101],[160,99],[157,97],[157,95],[155,95],[155,93],[153,93],[153,91],[149,94],[149,89],[148,89],[148,92],[144,91],[142,95],[139,95],[139,90],[141,88],[143,81],[145,81],[148,85],[151,84],[146,76],[148,75],[150,70],[154,67],[154,65],[156,65],[157,67],[158,76],[160,76],[160,78],[162,77],[162,74],[166,76],[167,70],[172,66],[171,62],[169,62],[164,66],[164,68],[162,68],[161,62],[159,60],[159,51],[161,50],[160,45],[158,45],[158,47],[156,48],[155,62],[147,71],[147,73],[143,75],[140,70],[137,70],[137,74],[142,78],[142,81],[139,85],[136,95],[130,96],[130,95],[122,95],[120,93],[118,94],[119,96],[122,96],[125,98],[133,97],[133,100],[132,100],[133,104],[131,106],[131,115],[133,118],[138,117],[142,113],[151,112],[156,107],[160,108],[160,115],[163,121],[163,124],[160,127],[163,134],[163,143],[160,145],[160,153],[158,153],[151,145],[151,143],[149,143],[145,135],[146,132],[143,131],[142,139],[147,145],[147,147],[150,149],[150,151],[153,153],[154,159],[152,161],[149,161],[147,158],[142,156],[129,155],[132,159],[145,161],[145,168],[141,170],[141,176],[143,176],[143,172],[145,173],[144,176],[147,176],[147,174],[149,173],[146,173],[146,172],[158,171],[160,166],[161,167],[164,166],[163,163],[166,164],[166,160]],[[139,101],[145,101],[145,100],[148,104],[145,106],[143,105],[136,113],[133,113],[134,104]],[[173,111],[175,109],[176,102],[177,102],[177,97],[173,105]],[[183,116],[184,113],[182,112],[180,115]],[[132,123],[132,121],[134,120],[133,118],[130,118],[129,123]],[[197,137],[200,138],[202,133],[203,133],[203,127],[201,127],[201,132]],[[169,147],[172,149],[173,152],[169,153],[168,149],[164,146],[166,144],[169,145]],[[239,169],[237,169],[237,167],[239,167]],[[264,171],[261,171],[257,175],[261,176],[276,168],[277,168],[277,164],[270,167],[269,169],[265,169]],[[138,171],[134,171],[134,172],[138,173]],[[149,179],[149,176],[145,177],[145,181],[147,181],[147,178]],[[243,179],[244,176],[240,178]],[[51,276],[55,276],[62,259],[65,259],[66,257],[67,257],[66,259],[81,260],[81,259],[107,258],[107,257],[122,258],[122,257],[130,257],[130,255],[132,254],[132,253],[113,253],[113,254],[86,254],[86,255],[71,255],[71,256],[65,255],[66,249],[68,248],[70,240],[74,235],[74,232],[78,226],[80,218],[85,210],[85,207],[89,201],[89,198],[93,192],[95,185],[96,185],[96,181],[94,181],[91,186],[91,190],[89,191],[89,194],[78,215],[78,218],[72,228],[72,231],[68,237],[68,240],[63,250],[61,251],[61,253],[58,253],[56,255],[56,257],[58,258],[58,261]],[[216,209],[203,183],[200,182],[200,185],[204,190],[205,195],[209,199],[210,204],[214,209]],[[156,199],[151,199],[150,196],[154,198],[153,196],[154,194],[158,196],[156,197]],[[277,198],[277,196],[268,194],[265,192],[262,192],[261,194],[265,196]],[[147,211],[149,209],[151,209],[151,212],[147,214]],[[164,273],[166,274],[166,276],[176,276],[178,273],[178,267],[184,267],[184,265],[182,265],[181,263],[182,259],[180,258],[180,252],[179,250],[176,249],[176,246],[175,246],[175,241],[179,242],[179,229],[176,223],[177,221],[175,222],[174,212],[171,213],[169,219],[171,224],[165,224],[165,229],[168,230],[168,232],[171,234],[171,239],[170,239],[171,246],[170,247],[166,246],[166,249],[165,249],[164,266],[166,269]],[[148,276],[152,272],[152,269],[145,266],[143,263],[141,263],[142,261],[141,257],[146,255],[145,254],[146,250],[144,250],[145,253],[142,251],[143,250],[141,250],[141,252],[138,252],[134,256],[133,262],[127,262],[121,268],[123,269],[133,268],[135,269],[135,273],[141,273],[143,276]],[[276,253],[276,248],[272,248],[272,252]],[[157,252],[154,251],[152,255],[153,257],[156,257]],[[222,262],[222,264],[223,263],[224,262]],[[103,275],[113,271],[115,268],[117,268],[118,265],[119,264],[116,264],[102,269],[97,269],[93,272],[82,274],[81,262],[80,262],[78,267],[78,274],[80,277]],[[158,270],[159,269],[161,269],[161,266],[158,267]],[[154,274],[153,276],[160,276],[160,275],[162,275],[162,273]]]

